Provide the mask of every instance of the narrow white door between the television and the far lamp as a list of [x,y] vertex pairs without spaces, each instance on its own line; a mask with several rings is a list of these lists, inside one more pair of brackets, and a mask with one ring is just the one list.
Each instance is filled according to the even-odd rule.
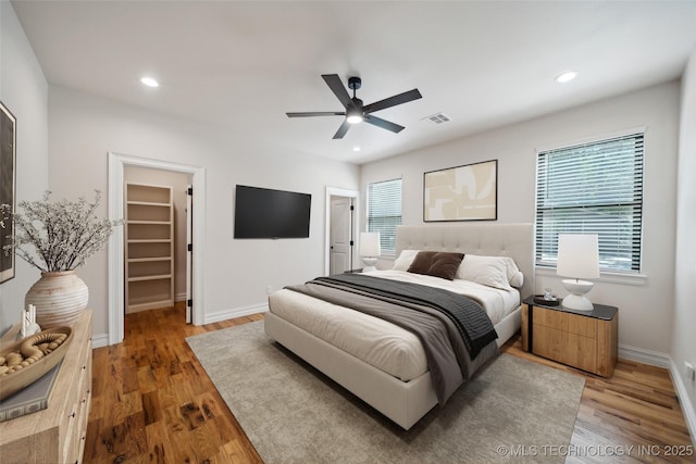
[[352,199],[340,197],[331,201],[332,274],[341,274],[352,266]]

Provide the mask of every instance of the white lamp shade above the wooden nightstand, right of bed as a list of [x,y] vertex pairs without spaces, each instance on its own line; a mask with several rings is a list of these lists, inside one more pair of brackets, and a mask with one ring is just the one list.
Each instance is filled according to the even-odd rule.
[[556,273],[572,278],[599,278],[597,234],[559,234]]

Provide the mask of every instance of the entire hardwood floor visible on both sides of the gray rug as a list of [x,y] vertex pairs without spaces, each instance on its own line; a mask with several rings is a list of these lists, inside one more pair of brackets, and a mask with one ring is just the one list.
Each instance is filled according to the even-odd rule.
[[[85,462],[261,463],[185,338],[262,318],[195,327],[182,305],[127,315],[124,342],[94,351]],[[519,336],[502,351],[585,377],[571,447],[544,452],[570,451],[572,463],[696,462],[666,369],[621,360],[605,379],[523,352]],[[666,455],[680,446],[692,455]]]

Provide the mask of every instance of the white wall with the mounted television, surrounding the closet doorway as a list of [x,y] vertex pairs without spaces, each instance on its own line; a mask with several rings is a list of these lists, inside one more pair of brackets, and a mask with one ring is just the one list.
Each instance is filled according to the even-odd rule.
[[[109,151],[206,167],[206,319],[264,305],[266,285],[278,289],[323,274],[325,189],[359,185],[351,164],[63,87],[50,87],[49,123],[50,184],[63,196],[105,192]],[[310,238],[234,240],[236,184],[311,193]],[[77,272],[89,287],[96,337],[108,330],[107,264],[104,251]]]

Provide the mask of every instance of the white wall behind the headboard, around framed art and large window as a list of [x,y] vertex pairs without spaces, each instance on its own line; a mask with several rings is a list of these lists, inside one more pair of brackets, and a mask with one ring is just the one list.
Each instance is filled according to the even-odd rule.
[[[647,277],[639,286],[602,278],[589,298],[619,306],[619,342],[624,351],[637,348],[639,355],[655,352],[664,360],[673,318],[679,99],[679,83],[672,81],[370,163],[361,168],[361,191],[369,183],[401,176],[403,224],[421,224],[424,172],[497,159],[498,222],[533,223],[537,149],[646,126],[643,273]],[[555,275],[537,273],[536,292],[546,287],[567,294]]]

